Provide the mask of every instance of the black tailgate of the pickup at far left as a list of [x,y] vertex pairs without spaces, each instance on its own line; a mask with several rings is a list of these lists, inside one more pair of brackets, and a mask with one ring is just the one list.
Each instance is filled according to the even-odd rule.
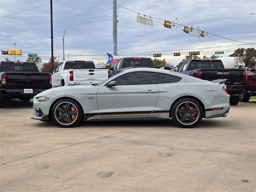
[[6,86],[10,88],[51,88],[49,74],[41,72],[6,72]]

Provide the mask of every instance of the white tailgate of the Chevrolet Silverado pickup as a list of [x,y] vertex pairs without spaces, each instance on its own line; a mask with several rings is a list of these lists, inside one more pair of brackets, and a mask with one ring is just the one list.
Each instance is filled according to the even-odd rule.
[[108,78],[108,69],[76,69],[74,70],[74,82],[103,81]]

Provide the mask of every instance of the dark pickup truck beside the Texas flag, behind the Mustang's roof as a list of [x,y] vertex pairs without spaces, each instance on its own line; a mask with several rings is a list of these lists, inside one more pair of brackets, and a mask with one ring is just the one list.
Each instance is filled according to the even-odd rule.
[[[150,67],[150,68],[162,68],[162,66],[155,66],[151,58],[146,57],[124,57],[117,60],[110,70],[110,76],[113,76],[121,71],[130,68],[138,67]],[[169,66],[164,67],[166,70],[171,70]]]

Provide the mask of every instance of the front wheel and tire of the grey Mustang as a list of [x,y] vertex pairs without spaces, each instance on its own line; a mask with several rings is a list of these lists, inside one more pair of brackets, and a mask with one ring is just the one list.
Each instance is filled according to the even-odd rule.
[[82,109],[72,99],[58,100],[51,110],[52,120],[61,127],[68,128],[78,125],[82,120]]

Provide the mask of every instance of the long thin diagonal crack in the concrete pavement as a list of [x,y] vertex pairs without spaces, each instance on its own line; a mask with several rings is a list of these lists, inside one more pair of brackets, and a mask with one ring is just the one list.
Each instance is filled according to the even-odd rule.
[[94,140],[98,140],[98,139],[102,139],[102,138],[108,138],[108,137],[110,137],[110,136],[117,135],[117,134],[124,133],[124,132],[128,132],[128,131],[132,131],[132,130],[135,130],[135,129],[139,129],[139,128],[133,128],[133,129],[130,129],[130,130],[126,130],[126,131],[122,131],[122,132],[114,133],[114,134],[107,135],[107,136],[102,136],[102,137],[95,138],[95,139],[91,139],[91,140],[88,140],[88,141],[83,141],[83,142],[80,142],[80,143],[72,144],[72,145],[69,145],[69,146],[65,146],[65,147],[57,148],[57,149],[50,150],[50,151],[46,151],[46,152],[42,152],[42,153],[35,154],[35,155],[32,155],[32,156],[28,156],[28,157],[24,157],[24,158],[16,159],[16,160],[13,160],[13,161],[5,162],[5,163],[0,164],[0,166],[1,166],[1,165],[4,165],[4,164],[12,163],[12,162],[20,161],[20,160],[23,160],[23,159],[31,158],[31,157],[34,157],[34,156],[38,156],[38,155],[42,155],[42,154],[46,154],[46,153],[50,153],[50,152],[57,151],[57,150],[60,150],[60,149],[68,148],[68,147],[71,147],[71,146],[75,146],[75,145],[83,144],[83,143],[86,143],[86,142],[90,142],[90,141],[94,141]]

